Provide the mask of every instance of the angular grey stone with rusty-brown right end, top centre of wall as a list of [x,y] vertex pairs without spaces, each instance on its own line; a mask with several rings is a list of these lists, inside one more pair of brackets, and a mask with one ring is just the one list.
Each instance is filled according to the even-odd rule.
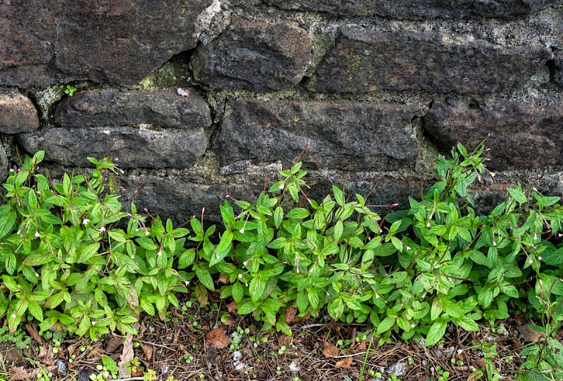
[[297,85],[312,57],[305,30],[289,23],[236,19],[192,57],[196,80],[227,89],[257,92]]

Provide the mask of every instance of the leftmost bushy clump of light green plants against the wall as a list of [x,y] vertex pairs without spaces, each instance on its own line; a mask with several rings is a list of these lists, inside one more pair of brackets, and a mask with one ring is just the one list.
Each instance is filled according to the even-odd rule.
[[160,218],[148,225],[134,204],[132,213],[122,211],[110,175],[120,170],[110,159],[89,158],[91,175],[52,182],[37,171],[43,157],[26,157],[3,185],[0,315],[7,313],[11,332],[34,319],[42,333],[135,333],[141,310],[163,318],[170,304],[178,306],[173,291],[186,292],[193,274],[172,263],[189,231]]

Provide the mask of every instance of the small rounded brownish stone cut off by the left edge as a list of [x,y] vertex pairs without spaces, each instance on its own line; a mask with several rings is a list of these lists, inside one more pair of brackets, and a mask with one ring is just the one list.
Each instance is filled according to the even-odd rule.
[[27,96],[18,92],[0,92],[0,132],[17,134],[37,128],[37,109]]

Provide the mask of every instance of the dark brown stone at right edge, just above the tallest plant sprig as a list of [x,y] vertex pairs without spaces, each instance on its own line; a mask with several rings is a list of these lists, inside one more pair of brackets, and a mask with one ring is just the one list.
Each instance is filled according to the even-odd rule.
[[491,135],[488,167],[540,168],[563,164],[563,96],[530,104],[450,97],[435,101],[425,118],[426,132],[444,149],[480,142]]

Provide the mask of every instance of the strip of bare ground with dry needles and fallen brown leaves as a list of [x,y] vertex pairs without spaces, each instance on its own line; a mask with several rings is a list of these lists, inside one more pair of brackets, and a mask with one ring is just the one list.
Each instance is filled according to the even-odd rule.
[[391,336],[391,344],[378,345],[370,325],[295,319],[288,336],[260,332],[260,323],[228,309],[220,302],[194,303],[172,311],[167,321],[145,316],[137,336],[109,335],[98,342],[63,334],[57,343],[27,324],[31,340],[23,349],[9,341],[0,345],[1,368],[14,381],[48,373],[52,380],[87,381],[92,373],[103,377],[101,359],[108,356],[120,370],[129,361],[125,380],[472,381],[477,380],[474,370],[485,366],[484,345],[496,347],[494,366],[502,380],[510,380],[522,362],[519,348],[530,339],[517,330],[526,322],[516,319],[500,323],[502,331],[496,333],[488,327],[480,332],[450,327],[443,342],[431,348],[403,343],[398,335]]

